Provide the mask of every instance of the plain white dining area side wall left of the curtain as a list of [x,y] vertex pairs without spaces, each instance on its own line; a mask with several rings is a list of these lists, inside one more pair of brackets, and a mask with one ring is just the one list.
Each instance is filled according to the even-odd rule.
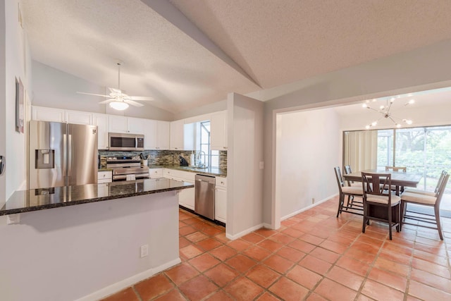
[[341,136],[333,109],[283,113],[277,125],[276,202],[284,219],[338,192]]

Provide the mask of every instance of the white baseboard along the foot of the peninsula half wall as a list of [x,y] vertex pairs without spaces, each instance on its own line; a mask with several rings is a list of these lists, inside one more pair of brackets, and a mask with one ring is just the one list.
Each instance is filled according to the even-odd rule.
[[165,264],[161,264],[161,266],[156,266],[152,269],[147,269],[146,271],[143,271],[140,274],[133,275],[129,278],[125,278],[122,281],[118,281],[116,283],[108,285],[105,288],[101,288],[100,290],[97,290],[94,293],[86,295],[85,297],[81,297],[80,299],[75,300],[75,301],[100,300],[104,297],[112,295],[113,293],[117,293],[117,292],[123,290],[124,288],[128,288],[129,286],[131,286],[137,282],[140,282],[140,281],[143,281],[144,279],[152,277],[155,274],[157,274],[161,271],[164,271],[165,269],[170,268],[171,266],[175,266],[175,264],[180,264],[180,262],[181,262],[180,258],[171,260],[171,262],[166,262]]

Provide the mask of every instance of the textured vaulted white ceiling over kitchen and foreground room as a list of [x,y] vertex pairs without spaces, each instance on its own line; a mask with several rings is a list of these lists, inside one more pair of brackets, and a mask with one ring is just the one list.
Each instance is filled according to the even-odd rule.
[[121,88],[174,113],[451,39],[449,0],[20,4],[32,59],[105,87],[122,61]]

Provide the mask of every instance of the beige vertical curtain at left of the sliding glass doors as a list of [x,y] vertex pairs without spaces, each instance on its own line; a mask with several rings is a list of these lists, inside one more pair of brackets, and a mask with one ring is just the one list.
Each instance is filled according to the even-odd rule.
[[344,147],[344,165],[350,165],[353,172],[377,168],[377,130],[345,132]]

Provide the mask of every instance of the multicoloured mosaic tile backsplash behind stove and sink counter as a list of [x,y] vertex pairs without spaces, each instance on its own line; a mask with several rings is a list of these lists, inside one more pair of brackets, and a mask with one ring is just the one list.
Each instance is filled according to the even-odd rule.
[[[174,150],[144,150],[142,152],[110,152],[99,151],[99,156],[135,156],[144,154],[149,156],[147,159],[149,165],[178,165],[180,161],[178,156],[183,156],[188,164],[190,162],[191,151]],[[194,152],[194,158],[197,158],[198,152]],[[227,169],[227,151],[219,151],[219,168]]]

